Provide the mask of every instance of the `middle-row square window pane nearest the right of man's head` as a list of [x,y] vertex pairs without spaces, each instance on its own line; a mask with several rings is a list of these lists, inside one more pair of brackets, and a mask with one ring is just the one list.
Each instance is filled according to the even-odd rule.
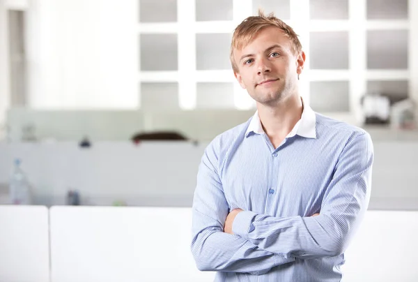
[[312,69],[348,69],[348,31],[311,32]]

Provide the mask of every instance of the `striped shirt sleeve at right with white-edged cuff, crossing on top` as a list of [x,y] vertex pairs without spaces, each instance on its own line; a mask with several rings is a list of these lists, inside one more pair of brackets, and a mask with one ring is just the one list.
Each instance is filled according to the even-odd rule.
[[241,211],[233,222],[233,233],[285,257],[339,255],[346,250],[369,205],[372,165],[370,135],[356,135],[339,156],[319,216],[273,217]]

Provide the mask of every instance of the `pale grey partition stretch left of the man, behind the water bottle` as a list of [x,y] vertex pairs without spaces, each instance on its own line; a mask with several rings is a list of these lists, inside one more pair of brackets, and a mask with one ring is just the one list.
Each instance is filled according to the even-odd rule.
[[186,205],[202,154],[202,146],[189,143],[95,142],[91,149],[74,142],[0,145],[0,182],[7,183],[13,157],[21,156],[39,201],[48,205],[65,203],[70,188],[95,205],[114,200]]

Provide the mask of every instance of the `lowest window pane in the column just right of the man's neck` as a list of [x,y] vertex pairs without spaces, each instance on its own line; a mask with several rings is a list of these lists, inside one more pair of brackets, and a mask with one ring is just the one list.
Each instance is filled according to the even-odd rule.
[[350,84],[348,81],[311,82],[311,107],[317,112],[349,112]]

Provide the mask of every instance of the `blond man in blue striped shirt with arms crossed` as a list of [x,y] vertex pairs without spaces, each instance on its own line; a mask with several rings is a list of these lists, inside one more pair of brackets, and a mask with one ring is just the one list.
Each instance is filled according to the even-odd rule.
[[343,252],[369,205],[370,135],[300,96],[305,54],[273,15],[235,29],[235,77],[256,101],[203,154],[192,253],[216,281],[340,281]]

